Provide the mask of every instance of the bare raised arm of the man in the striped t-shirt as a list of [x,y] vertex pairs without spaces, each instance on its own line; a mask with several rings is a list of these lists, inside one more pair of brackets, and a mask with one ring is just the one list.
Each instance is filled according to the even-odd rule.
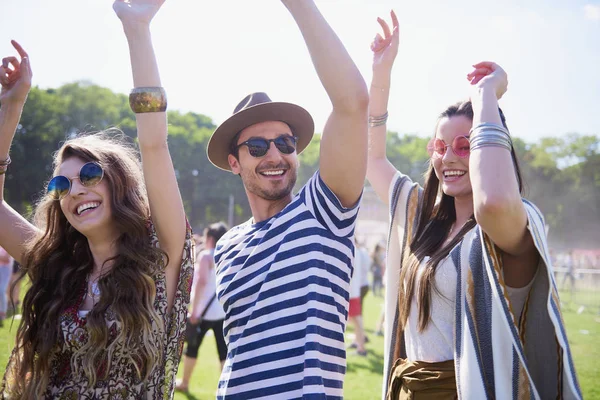
[[320,173],[345,207],[356,204],[367,170],[368,94],[344,45],[312,0],[282,0],[296,20],[333,105],[321,138]]

